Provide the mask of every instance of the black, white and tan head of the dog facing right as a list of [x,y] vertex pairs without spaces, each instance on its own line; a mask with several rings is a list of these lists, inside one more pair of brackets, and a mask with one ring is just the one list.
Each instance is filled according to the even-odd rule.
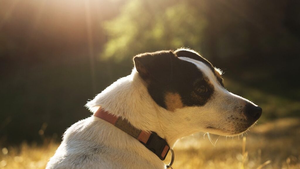
[[145,53],[134,63],[155,103],[193,129],[232,136],[262,114],[257,105],[227,91],[221,72],[195,51]]

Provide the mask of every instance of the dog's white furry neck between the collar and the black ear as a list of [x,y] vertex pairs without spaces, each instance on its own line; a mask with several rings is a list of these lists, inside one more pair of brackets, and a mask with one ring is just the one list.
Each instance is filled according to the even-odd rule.
[[[170,147],[184,137],[182,131],[170,124],[170,112],[158,106],[149,95],[145,82],[134,69],[131,75],[120,78],[98,94],[86,105],[93,113],[98,108],[127,119],[134,127],[154,131],[164,138]],[[185,133],[186,134],[186,133]]]

